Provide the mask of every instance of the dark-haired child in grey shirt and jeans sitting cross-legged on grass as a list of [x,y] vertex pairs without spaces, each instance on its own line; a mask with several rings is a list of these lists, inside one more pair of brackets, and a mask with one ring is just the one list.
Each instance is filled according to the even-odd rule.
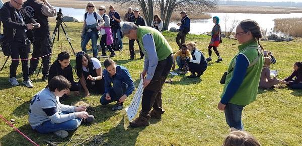
[[93,121],[88,115],[86,106],[69,106],[61,104],[62,97],[71,83],[63,76],[54,76],[48,85],[39,91],[29,105],[29,123],[39,133],[54,132],[59,137],[68,136],[69,130],[78,128],[82,118]]

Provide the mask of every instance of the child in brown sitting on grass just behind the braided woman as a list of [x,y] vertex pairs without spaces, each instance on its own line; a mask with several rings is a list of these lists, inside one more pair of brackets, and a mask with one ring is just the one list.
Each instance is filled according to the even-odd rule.
[[278,80],[276,77],[271,78],[270,77],[270,70],[269,66],[271,64],[269,57],[264,57],[264,66],[261,72],[261,77],[260,77],[260,83],[259,83],[259,88],[265,88],[265,89],[270,89],[270,88],[275,88],[274,85],[277,85],[280,80]]

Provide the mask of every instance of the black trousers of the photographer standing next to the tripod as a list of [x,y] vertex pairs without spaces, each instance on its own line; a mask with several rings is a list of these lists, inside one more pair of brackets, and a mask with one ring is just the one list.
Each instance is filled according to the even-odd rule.
[[[33,53],[31,58],[38,58],[41,56],[45,56],[52,52],[51,47],[51,39],[49,35],[43,36],[43,37],[35,37],[35,42],[33,43]],[[29,71],[34,72],[39,64],[40,59],[33,59],[30,60],[29,63]],[[42,74],[45,76],[48,76],[49,74],[49,68],[50,68],[50,60],[51,60],[51,54],[42,57]]]

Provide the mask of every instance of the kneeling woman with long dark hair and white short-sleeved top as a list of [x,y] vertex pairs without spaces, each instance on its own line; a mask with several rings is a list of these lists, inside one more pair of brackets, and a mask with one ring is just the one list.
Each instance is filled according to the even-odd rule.
[[78,52],[75,55],[75,73],[80,78],[85,96],[90,92],[97,94],[104,93],[104,79],[102,77],[102,65],[97,58],[90,58],[85,52]]

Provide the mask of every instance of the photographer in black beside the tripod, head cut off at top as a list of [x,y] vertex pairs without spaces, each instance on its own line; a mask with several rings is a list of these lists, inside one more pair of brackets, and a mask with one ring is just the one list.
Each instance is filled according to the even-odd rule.
[[40,60],[39,57],[44,56],[42,57],[42,80],[46,81],[48,79],[52,52],[48,17],[56,16],[56,10],[47,0],[27,0],[23,8],[31,18],[35,19],[41,25],[40,28],[33,31],[35,41],[33,42],[32,59],[29,63],[29,74],[32,75],[36,71]]

